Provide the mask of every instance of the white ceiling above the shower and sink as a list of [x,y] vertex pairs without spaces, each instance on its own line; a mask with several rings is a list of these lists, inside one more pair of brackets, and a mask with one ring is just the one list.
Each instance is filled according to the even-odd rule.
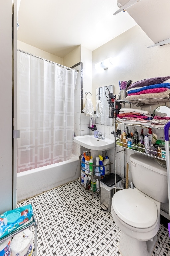
[[63,58],[76,46],[93,51],[136,22],[117,0],[21,0],[18,40]]

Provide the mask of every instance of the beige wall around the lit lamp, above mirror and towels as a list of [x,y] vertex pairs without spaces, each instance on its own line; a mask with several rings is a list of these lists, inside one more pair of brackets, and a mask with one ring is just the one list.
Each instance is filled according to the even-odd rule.
[[[170,75],[170,44],[147,48],[153,42],[138,26],[134,26],[115,39],[93,51],[92,90],[106,85],[115,85],[119,93],[119,80],[133,82],[150,77]],[[94,65],[104,59],[113,57],[115,66],[97,71]]]

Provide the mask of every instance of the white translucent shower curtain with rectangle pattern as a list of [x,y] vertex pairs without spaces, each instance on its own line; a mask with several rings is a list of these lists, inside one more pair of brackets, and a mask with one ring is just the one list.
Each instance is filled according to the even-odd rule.
[[71,158],[77,72],[18,51],[17,172]]

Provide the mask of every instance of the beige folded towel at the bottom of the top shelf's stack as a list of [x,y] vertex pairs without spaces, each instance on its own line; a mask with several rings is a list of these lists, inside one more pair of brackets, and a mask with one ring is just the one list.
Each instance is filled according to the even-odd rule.
[[[170,90],[158,93],[146,93],[140,95],[130,95],[125,98],[125,100],[131,102],[135,106],[148,106],[152,104],[158,104],[162,102],[167,102],[170,95]],[[155,100],[156,99],[156,100]]]

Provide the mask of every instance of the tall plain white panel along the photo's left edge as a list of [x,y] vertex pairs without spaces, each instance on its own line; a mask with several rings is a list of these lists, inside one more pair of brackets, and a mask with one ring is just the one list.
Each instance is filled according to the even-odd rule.
[[12,209],[12,2],[0,8],[0,213]]

